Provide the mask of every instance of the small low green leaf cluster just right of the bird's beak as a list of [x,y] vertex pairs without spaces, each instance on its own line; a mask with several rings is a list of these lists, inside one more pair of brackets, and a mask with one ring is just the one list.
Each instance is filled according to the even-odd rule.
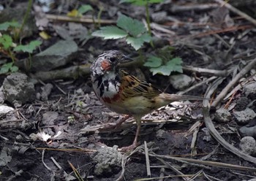
[[181,58],[174,58],[171,54],[172,47],[165,47],[158,50],[157,56],[150,55],[144,63],[144,66],[149,67],[152,74],[170,75],[171,72],[183,72]]

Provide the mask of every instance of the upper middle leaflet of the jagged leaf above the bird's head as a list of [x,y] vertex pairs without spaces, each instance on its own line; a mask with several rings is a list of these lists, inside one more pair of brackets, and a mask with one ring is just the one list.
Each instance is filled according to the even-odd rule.
[[129,18],[126,15],[120,15],[116,25],[135,37],[146,32],[146,27],[142,22]]

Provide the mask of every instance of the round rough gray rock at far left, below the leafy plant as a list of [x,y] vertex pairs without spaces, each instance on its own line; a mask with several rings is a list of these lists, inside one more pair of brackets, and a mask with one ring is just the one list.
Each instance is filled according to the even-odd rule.
[[4,99],[12,104],[24,104],[34,101],[36,93],[34,84],[29,82],[26,74],[19,72],[8,75],[3,82]]

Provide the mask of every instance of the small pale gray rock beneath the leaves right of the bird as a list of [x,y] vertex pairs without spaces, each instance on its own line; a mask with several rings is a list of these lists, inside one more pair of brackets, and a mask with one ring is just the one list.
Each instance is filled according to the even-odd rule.
[[194,79],[187,76],[187,74],[175,74],[170,76],[170,84],[177,90],[184,90],[192,84]]

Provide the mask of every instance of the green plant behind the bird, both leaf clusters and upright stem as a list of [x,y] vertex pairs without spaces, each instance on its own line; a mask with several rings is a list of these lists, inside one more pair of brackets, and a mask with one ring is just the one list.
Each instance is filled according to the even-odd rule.
[[[131,3],[136,6],[146,7],[146,20],[148,31],[144,24],[139,20],[132,19],[126,15],[118,17],[116,26],[104,26],[94,31],[93,36],[103,37],[104,39],[121,39],[124,38],[127,44],[139,50],[145,42],[151,42],[150,18],[148,12],[148,4],[160,3],[163,0],[121,0],[120,3]],[[152,47],[153,43],[151,42]],[[181,58],[173,58],[172,48],[159,50],[156,55],[150,55],[144,63],[152,74],[170,75],[171,72],[182,72]]]

